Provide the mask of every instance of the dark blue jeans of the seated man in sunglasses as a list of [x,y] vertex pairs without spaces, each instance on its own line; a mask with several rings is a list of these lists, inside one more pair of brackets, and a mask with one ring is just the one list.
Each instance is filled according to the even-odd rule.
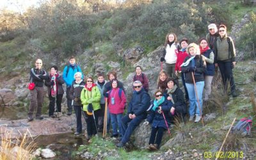
[[[122,143],[127,143],[127,141],[129,141],[132,132],[134,131],[134,129],[136,129],[136,127],[140,124],[140,122],[142,120],[144,120],[147,117],[147,114],[143,114],[143,115],[139,115],[136,116],[133,119],[130,119],[128,115],[125,115],[122,118]],[[129,124],[128,124],[129,123]]]

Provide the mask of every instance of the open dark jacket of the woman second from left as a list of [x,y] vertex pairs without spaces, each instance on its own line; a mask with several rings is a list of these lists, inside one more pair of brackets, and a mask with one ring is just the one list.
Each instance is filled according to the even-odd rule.
[[[51,74],[49,74],[48,78],[45,80],[45,83],[44,83],[45,86],[47,86],[48,95],[51,95],[51,79],[52,79],[52,76],[51,76]],[[56,75],[56,79],[57,79],[56,84],[58,84],[57,87],[56,87],[57,88],[57,94],[62,95],[62,94],[64,94],[62,84],[65,83],[65,82],[63,80],[63,77],[59,74]]]

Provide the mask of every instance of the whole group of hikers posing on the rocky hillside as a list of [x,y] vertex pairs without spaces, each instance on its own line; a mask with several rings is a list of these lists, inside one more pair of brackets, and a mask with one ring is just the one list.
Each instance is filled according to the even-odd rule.
[[[203,100],[210,98],[211,82],[216,67],[220,68],[224,90],[227,91],[229,82],[230,94],[233,97],[237,96],[232,74],[232,69],[236,65],[236,50],[232,38],[227,36],[225,25],[221,24],[218,29],[216,24],[210,24],[208,29],[209,33],[206,38],[199,40],[199,45],[189,44],[187,38],[182,38],[178,43],[175,33],[166,35],[154,100],[150,100],[148,77],[142,72],[141,66],[135,67],[132,95],[128,104],[124,85],[118,81],[114,71],[108,72],[108,82],[102,73],[97,75],[95,81],[92,76],[83,75],[76,59],[71,56],[62,76],[56,66],[52,66],[48,74],[42,68],[42,60],[37,59],[35,68],[31,68],[30,72],[30,82],[35,86],[29,88],[31,104],[28,122],[33,120],[35,109],[35,118],[43,119],[41,109],[44,100],[44,83],[49,96],[49,116],[54,118],[56,116],[54,112],[57,115],[61,114],[65,83],[67,115],[72,115],[73,108],[76,113],[77,125],[74,135],[78,136],[82,133],[81,119],[84,116],[88,140],[98,132],[102,132],[104,128],[107,132],[112,128],[111,137],[120,140],[116,146],[124,147],[134,129],[146,119],[143,125],[152,124],[148,150],[159,149],[163,133],[169,130],[174,118],[184,120],[188,110],[189,121],[200,122]],[[165,62],[165,70],[163,70],[163,62]],[[179,87],[179,76],[184,86],[185,98],[184,92]],[[189,109],[186,102],[189,102]],[[128,104],[127,113],[124,115],[126,104]],[[107,114],[104,114],[105,111]],[[104,126],[105,122],[106,126]]]

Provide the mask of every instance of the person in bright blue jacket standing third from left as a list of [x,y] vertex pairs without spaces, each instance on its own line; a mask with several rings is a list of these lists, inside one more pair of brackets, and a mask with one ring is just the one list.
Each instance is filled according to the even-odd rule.
[[[63,70],[63,79],[65,83],[67,84],[67,90],[66,90],[66,97],[67,97],[67,106],[68,106],[68,113],[67,115],[70,116],[72,114],[72,99],[69,98],[69,92],[71,88],[71,84],[73,83],[74,75],[76,72],[82,72],[81,68],[76,64],[76,59],[74,56],[71,56],[69,58],[69,63],[67,66],[64,67]],[[83,73],[83,72],[82,72]],[[83,75],[82,75],[83,79]]]

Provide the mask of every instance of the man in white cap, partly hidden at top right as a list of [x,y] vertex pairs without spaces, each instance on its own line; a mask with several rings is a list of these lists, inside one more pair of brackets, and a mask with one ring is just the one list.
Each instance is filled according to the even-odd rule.
[[206,40],[207,40],[207,43],[209,44],[209,47],[212,50],[214,50],[214,41],[220,35],[218,33],[218,28],[217,28],[216,24],[214,24],[214,23],[210,24],[208,26],[208,29],[209,29],[209,33],[207,33],[207,35],[206,35]]

